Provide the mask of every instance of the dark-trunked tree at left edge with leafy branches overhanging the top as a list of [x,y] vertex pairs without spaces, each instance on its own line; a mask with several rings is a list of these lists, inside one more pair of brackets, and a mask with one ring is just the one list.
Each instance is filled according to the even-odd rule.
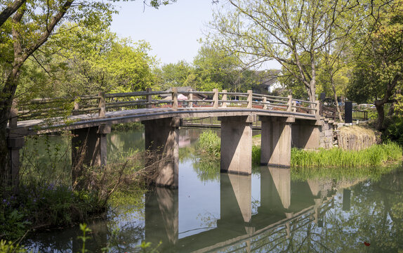
[[[173,0],[175,1],[175,0]],[[145,1],[146,3],[146,1]],[[158,7],[169,1],[151,0]],[[6,126],[18,87],[21,67],[32,53],[43,46],[65,20],[79,25],[103,20],[110,22],[113,7],[103,1],[7,0],[0,4],[0,177],[7,182],[8,148]]]

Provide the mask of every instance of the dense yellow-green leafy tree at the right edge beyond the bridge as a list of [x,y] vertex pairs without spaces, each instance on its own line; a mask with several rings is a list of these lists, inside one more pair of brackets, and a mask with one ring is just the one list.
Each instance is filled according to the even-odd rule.
[[[403,1],[380,5],[376,20],[367,30],[369,36],[357,39],[358,58],[348,94],[357,102],[374,100],[378,121],[376,129],[384,129],[384,106],[394,103],[394,94],[403,79]],[[364,46],[362,46],[364,45]]]

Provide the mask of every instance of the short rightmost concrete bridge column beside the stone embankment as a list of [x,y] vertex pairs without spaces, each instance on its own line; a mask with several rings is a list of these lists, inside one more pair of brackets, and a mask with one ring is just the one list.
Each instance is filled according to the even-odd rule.
[[292,126],[292,145],[296,148],[318,149],[320,131],[319,124],[308,121],[297,121]]

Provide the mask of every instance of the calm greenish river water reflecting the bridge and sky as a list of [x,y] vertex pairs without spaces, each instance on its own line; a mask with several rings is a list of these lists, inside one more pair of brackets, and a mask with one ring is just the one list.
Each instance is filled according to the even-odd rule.
[[[403,252],[403,170],[376,181],[293,181],[290,169],[220,174],[181,130],[179,188],[126,196],[105,221],[91,221],[91,252]],[[144,146],[138,131],[110,134],[109,161]],[[34,252],[79,252],[79,228],[33,235]]]

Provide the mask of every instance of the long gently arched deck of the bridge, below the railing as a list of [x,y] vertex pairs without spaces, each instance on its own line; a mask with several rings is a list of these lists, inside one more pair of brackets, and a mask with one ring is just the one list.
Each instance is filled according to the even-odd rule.
[[[128,122],[141,122],[150,119],[166,117],[233,117],[233,116],[267,116],[292,117],[295,119],[316,120],[315,115],[300,112],[286,112],[281,110],[262,110],[256,108],[149,108],[133,110],[117,110],[106,112],[105,116],[98,114],[74,115],[68,117],[55,117],[49,119],[30,119],[18,122],[13,128],[13,134],[28,136],[44,134],[62,130],[81,129],[102,124],[121,124]],[[8,129],[11,131],[11,129]]]

